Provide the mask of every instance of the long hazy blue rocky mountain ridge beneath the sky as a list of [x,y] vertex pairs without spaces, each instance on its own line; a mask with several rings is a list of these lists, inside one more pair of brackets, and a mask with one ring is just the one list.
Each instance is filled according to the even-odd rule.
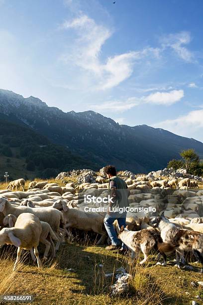
[[64,113],[37,98],[24,99],[0,90],[0,114],[10,122],[26,124],[56,144],[103,166],[148,172],[167,165],[183,149],[203,156],[203,143],[147,125],[129,127],[93,111]]

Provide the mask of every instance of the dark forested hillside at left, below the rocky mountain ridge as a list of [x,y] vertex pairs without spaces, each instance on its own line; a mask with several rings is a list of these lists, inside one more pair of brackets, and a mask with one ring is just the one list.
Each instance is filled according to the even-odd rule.
[[44,136],[0,119],[0,180],[7,171],[9,179],[48,178],[73,168],[93,168],[95,164],[52,144]]

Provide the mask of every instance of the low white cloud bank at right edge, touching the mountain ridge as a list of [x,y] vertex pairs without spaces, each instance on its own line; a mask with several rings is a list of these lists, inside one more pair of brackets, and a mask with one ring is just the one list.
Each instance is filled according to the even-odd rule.
[[187,138],[194,138],[196,135],[199,141],[203,141],[203,109],[191,111],[174,120],[162,121],[154,124],[154,127],[163,128]]

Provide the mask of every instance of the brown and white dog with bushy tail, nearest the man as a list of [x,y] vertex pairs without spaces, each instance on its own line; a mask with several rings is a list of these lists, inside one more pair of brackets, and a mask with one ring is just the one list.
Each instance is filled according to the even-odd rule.
[[173,245],[163,243],[159,232],[155,229],[143,229],[140,231],[129,231],[122,226],[118,238],[127,246],[131,251],[131,258],[134,259],[140,251],[144,254],[144,259],[140,264],[144,264],[148,259],[149,252],[154,248],[164,257],[166,265],[166,256],[175,250]]

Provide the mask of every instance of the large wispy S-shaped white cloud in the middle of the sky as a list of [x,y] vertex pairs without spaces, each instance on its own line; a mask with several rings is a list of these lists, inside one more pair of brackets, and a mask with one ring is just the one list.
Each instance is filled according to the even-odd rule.
[[61,59],[65,63],[74,63],[76,66],[92,73],[95,89],[105,90],[113,88],[133,72],[136,60],[147,56],[158,57],[159,49],[147,47],[141,51],[129,51],[123,54],[108,57],[104,63],[100,59],[102,45],[112,35],[106,26],[99,25],[94,19],[85,14],[65,21],[61,29],[74,29],[78,38],[74,42],[72,52],[65,53]]

